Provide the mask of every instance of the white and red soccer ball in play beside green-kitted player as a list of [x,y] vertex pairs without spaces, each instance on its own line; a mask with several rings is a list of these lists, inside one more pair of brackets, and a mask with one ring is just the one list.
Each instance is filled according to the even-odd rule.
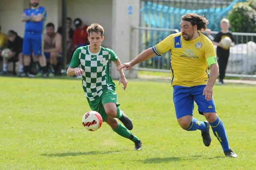
[[97,131],[102,125],[102,117],[97,111],[88,111],[82,118],[82,124],[89,131]]

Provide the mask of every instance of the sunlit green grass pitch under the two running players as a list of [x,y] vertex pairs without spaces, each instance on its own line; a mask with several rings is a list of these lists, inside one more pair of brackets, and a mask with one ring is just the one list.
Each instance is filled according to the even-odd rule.
[[[234,159],[224,157],[212,131],[204,147],[200,131],[179,127],[170,83],[128,80],[123,91],[115,82],[141,151],[106,123],[84,129],[82,115],[90,109],[81,80],[0,77],[0,169],[256,169],[255,86],[214,86]],[[196,110],[194,117],[205,120]]]

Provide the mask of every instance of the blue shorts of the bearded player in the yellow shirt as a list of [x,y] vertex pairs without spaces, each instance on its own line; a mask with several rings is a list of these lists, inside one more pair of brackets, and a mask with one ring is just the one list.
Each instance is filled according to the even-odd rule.
[[203,96],[205,86],[173,86],[173,102],[177,119],[186,115],[193,115],[194,102],[196,102],[198,112],[201,115],[203,113],[216,112],[213,98],[207,101]]

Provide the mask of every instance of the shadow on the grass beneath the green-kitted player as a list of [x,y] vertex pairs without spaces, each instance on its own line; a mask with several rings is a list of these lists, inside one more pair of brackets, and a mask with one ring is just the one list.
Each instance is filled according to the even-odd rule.
[[79,155],[90,155],[90,154],[109,154],[113,152],[120,152],[120,150],[111,150],[106,152],[101,151],[90,151],[90,152],[66,152],[66,153],[56,153],[56,154],[41,154],[42,156],[49,157],[63,157],[63,156],[79,156]]

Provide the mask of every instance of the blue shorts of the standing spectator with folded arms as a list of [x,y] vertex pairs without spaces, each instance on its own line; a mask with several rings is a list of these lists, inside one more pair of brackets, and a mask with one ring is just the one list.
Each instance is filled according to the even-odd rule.
[[42,33],[34,31],[25,31],[22,45],[22,53],[24,55],[42,55]]

